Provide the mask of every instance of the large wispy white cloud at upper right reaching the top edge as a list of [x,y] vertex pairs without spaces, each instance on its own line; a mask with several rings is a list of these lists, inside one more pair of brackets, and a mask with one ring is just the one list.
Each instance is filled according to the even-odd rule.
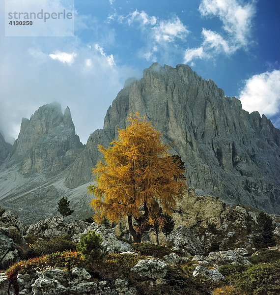
[[[193,59],[208,59],[221,53],[231,55],[241,48],[247,50],[252,43],[252,19],[256,12],[254,0],[248,3],[243,0],[202,0],[199,12],[204,17],[219,18],[223,25],[221,32],[202,29],[203,41],[199,48],[203,48],[204,55],[194,54]],[[196,52],[197,48],[193,50]]]

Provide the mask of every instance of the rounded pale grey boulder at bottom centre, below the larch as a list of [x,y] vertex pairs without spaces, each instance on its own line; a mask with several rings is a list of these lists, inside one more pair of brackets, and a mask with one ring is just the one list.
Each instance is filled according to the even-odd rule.
[[166,276],[168,264],[161,259],[144,259],[130,270],[142,280],[160,279]]

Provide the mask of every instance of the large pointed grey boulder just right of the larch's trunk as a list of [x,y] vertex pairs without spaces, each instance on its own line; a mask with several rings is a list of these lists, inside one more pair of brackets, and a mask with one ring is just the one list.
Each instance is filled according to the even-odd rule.
[[190,252],[192,255],[204,253],[201,242],[184,226],[179,226],[173,230],[166,239],[175,246]]

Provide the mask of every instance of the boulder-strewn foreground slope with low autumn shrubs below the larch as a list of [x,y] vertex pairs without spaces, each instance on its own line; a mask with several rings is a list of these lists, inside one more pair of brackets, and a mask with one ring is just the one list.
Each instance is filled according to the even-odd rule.
[[[216,201],[219,211],[221,201]],[[216,201],[212,199],[213,204]],[[209,204],[210,199],[202,198],[200,202]],[[223,207],[224,210],[232,210],[227,205]],[[231,228],[240,226],[246,214],[244,210],[241,207],[236,208],[239,219],[228,220],[227,223],[217,226],[217,229],[220,230],[225,225]],[[256,252],[250,257],[249,251],[254,253],[255,249],[252,248],[249,236],[244,248],[232,245],[232,249],[209,251],[203,246],[202,237],[185,226],[175,227],[163,244],[156,246],[148,241],[144,244],[129,244],[118,239],[113,229],[96,223],[89,224],[81,220],[66,222],[55,216],[27,228],[9,212],[1,214],[0,269],[13,266],[0,272],[0,295],[210,295],[213,294],[214,288],[232,283],[231,278],[228,280],[230,272],[237,270],[242,277],[242,272],[251,271],[253,276],[252,263],[255,259],[252,257],[261,253]],[[200,218],[197,218],[195,223],[199,223],[199,220]],[[251,220],[251,225],[253,224]],[[204,224],[198,227],[204,228]],[[64,238],[64,242],[68,239],[75,247],[75,242],[88,231],[99,234],[102,247],[110,253],[104,262],[88,263],[77,252],[61,250],[61,238]],[[221,235],[223,232],[224,230]],[[208,236],[212,234],[210,231]],[[30,238],[36,242],[27,243]],[[215,241],[219,243],[220,240],[221,237],[216,236]],[[239,237],[235,240],[237,243]],[[39,251],[38,253],[43,251],[41,257],[33,259],[37,252],[32,250]],[[279,246],[262,249],[262,253],[267,253],[265,259],[270,260],[279,259],[278,252]],[[45,255],[42,256],[43,254]],[[257,257],[256,259],[262,262]],[[22,261],[17,263],[19,260]],[[270,263],[267,265],[261,263],[261,270],[262,277],[268,274],[269,279],[256,281],[262,288],[276,291],[279,288],[277,265],[272,265],[273,260],[268,262]],[[266,271],[264,267],[269,269]],[[258,273],[255,276],[257,275]],[[251,293],[248,294],[254,294],[252,291],[256,288],[251,284],[247,285],[242,287],[249,287]],[[238,281],[232,286],[237,288]],[[214,291],[214,294],[224,294],[217,292],[218,290],[216,293]]]

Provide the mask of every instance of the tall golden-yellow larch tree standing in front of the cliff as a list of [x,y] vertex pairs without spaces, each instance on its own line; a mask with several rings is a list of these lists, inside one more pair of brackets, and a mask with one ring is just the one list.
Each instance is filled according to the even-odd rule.
[[141,242],[144,225],[158,222],[162,227],[164,220],[155,216],[160,207],[171,213],[186,183],[181,177],[184,170],[170,157],[153,123],[138,112],[130,114],[127,122],[109,148],[99,146],[103,160],[92,170],[95,184],[87,188],[95,196],[90,202],[95,220],[118,221],[126,216],[134,241]]

